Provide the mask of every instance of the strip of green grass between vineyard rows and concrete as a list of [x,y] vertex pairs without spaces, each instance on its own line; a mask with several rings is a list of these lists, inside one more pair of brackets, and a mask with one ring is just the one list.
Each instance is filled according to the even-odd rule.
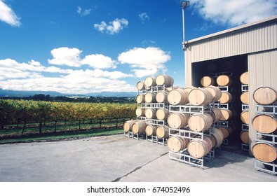
[[65,132],[65,133],[52,133],[52,134],[41,134],[37,136],[22,136],[11,139],[1,139],[0,144],[20,143],[20,142],[36,142],[36,141],[62,141],[69,139],[82,139],[88,137],[96,137],[102,135],[113,135],[122,134],[122,128],[109,128],[100,130],[86,130],[76,132]]

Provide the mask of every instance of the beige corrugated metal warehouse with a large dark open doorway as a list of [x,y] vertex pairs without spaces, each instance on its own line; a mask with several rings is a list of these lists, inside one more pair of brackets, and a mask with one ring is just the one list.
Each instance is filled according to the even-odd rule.
[[251,123],[257,114],[257,103],[252,95],[262,86],[277,90],[277,15],[186,41],[184,54],[186,87],[200,87],[204,76],[215,78],[220,74],[229,74],[235,103],[235,137],[239,137],[242,129],[240,97],[243,88],[240,77],[248,72],[250,146],[257,137]]

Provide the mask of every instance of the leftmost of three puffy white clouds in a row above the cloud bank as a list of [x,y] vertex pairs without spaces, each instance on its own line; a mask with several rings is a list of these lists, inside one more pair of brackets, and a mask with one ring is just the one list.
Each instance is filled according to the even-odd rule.
[[48,59],[48,63],[79,67],[81,66],[81,59],[79,57],[81,52],[78,48],[55,48],[51,50],[53,59]]

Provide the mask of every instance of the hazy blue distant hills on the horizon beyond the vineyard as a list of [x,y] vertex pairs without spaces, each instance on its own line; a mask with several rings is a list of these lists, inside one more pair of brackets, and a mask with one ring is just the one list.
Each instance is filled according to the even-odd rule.
[[35,94],[49,94],[51,97],[135,97],[137,92],[94,92],[88,94],[63,94],[55,91],[27,91],[27,90],[3,90],[0,88],[0,97],[29,97]]

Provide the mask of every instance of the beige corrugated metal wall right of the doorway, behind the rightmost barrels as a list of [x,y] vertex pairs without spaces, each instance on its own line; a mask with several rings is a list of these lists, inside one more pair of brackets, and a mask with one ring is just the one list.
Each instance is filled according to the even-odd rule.
[[[277,50],[248,55],[248,72],[250,94],[250,122],[255,116],[256,102],[253,93],[258,87],[267,86],[277,90]],[[250,140],[255,139],[255,130],[250,123]]]

